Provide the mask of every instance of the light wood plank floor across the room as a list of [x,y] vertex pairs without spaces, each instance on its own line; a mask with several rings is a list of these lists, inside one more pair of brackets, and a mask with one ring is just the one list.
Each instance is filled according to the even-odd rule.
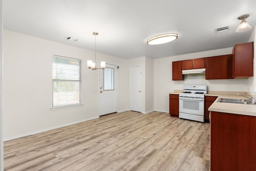
[[10,171],[209,171],[210,124],[133,111],[4,142]]

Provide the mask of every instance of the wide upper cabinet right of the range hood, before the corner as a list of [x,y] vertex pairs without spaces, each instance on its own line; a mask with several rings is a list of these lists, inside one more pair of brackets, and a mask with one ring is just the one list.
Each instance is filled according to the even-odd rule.
[[205,79],[228,79],[228,59],[232,54],[205,58]]

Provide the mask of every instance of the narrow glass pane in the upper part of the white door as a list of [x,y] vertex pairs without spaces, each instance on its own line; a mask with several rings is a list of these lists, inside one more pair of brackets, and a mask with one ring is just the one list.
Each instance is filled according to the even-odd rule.
[[114,90],[114,68],[104,69],[104,91]]

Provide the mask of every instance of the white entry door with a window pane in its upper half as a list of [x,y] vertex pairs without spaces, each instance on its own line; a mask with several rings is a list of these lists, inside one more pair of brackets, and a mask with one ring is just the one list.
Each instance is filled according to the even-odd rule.
[[117,68],[106,64],[100,70],[100,116],[117,112]]

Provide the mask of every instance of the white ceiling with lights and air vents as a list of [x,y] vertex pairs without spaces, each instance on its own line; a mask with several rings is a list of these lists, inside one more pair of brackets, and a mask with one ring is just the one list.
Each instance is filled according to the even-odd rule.
[[[4,29],[120,58],[164,58],[248,42],[256,0],[3,0]],[[252,29],[237,33],[238,16]],[[215,33],[215,28],[230,30]],[[148,45],[148,38],[178,39]],[[71,40],[66,40],[66,37]],[[78,41],[74,41],[78,39]]]

